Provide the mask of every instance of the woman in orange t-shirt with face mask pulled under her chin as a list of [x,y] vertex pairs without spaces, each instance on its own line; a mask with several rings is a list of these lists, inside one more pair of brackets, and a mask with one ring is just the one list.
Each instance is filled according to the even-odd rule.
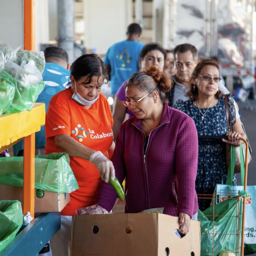
[[45,154],[66,152],[79,189],[61,212],[61,229],[51,240],[52,254],[70,255],[71,220],[75,210],[97,203],[102,178],[108,182],[115,170],[113,118],[100,93],[106,67],[96,54],[85,54],[71,66],[71,87],[54,95],[45,120]]

